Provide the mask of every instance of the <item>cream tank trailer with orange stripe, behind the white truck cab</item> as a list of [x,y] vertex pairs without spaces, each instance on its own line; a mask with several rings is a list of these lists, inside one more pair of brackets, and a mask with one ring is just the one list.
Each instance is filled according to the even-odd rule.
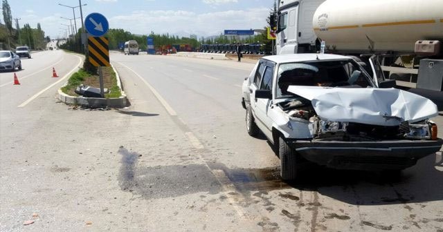
[[399,88],[443,103],[441,93],[420,90],[443,90],[442,0],[327,0],[312,21],[327,52],[377,54]]

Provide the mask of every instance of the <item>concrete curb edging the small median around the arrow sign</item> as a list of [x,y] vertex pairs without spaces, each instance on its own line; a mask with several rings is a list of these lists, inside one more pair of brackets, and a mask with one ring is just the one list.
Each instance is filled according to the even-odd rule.
[[[111,65],[112,66],[112,65]],[[114,72],[116,72],[117,85],[120,87],[122,96],[118,98],[100,98],[100,97],[74,97],[62,92],[62,89],[58,90],[58,99],[68,105],[80,105],[89,107],[111,107],[111,108],[124,108],[128,105],[125,91],[123,91],[120,75],[117,70],[112,66]],[[67,84],[67,83],[66,83]]]

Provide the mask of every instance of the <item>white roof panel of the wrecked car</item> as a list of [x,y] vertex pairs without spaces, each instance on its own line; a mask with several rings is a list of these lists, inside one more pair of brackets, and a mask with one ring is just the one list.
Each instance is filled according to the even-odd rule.
[[352,59],[352,58],[343,55],[334,55],[334,54],[302,53],[302,54],[271,55],[267,57],[262,57],[262,59],[267,59],[277,64],[281,64],[288,62],[334,60],[334,59],[343,60],[343,59]]

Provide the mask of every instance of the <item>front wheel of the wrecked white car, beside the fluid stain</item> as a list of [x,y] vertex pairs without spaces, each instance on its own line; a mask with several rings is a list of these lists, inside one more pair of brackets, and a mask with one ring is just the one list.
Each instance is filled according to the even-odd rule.
[[297,177],[297,154],[293,152],[282,136],[278,139],[278,155],[280,156],[280,176],[282,179],[295,180]]

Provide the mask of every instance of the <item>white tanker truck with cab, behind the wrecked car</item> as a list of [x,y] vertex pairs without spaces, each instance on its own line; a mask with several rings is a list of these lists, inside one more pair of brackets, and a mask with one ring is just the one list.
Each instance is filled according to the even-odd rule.
[[316,52],[320,41],[330,53],[377,55],[397,86],[442,93],[443,0],[279,1],[277,54]]

